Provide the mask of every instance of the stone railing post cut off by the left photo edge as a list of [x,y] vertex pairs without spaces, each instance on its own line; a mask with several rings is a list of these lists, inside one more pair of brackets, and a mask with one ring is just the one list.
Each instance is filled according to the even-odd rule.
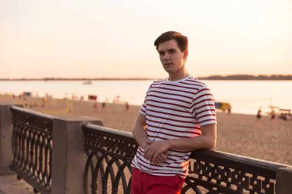
[[13,161],[13,124],[10,111],[12,106],[23,107],[21,104],[0,103],[0,174],[9,172],[9,166]]

